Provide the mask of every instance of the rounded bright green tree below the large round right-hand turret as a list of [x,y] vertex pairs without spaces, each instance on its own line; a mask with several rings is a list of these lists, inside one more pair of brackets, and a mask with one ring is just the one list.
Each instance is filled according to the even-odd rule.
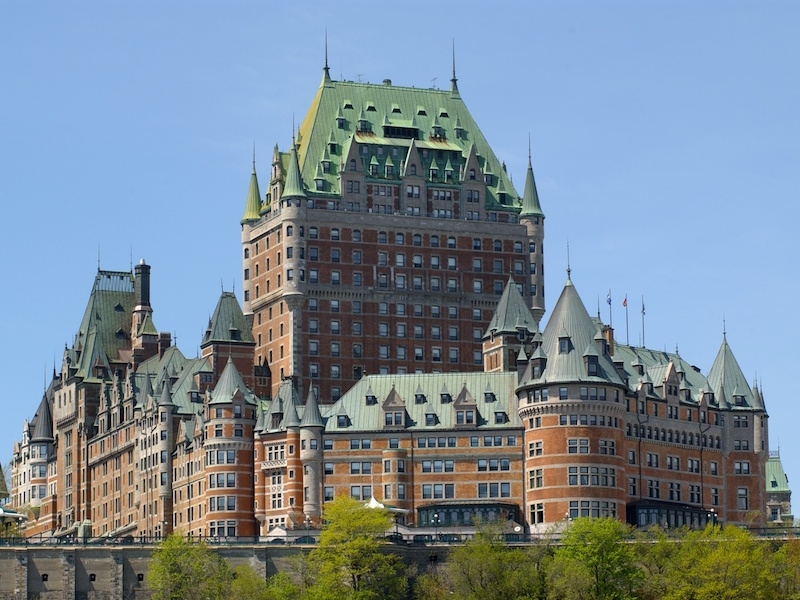
[[636,598],[642,571],[630,526],[612,518],[576,519],[564,532],[549,570],[554,600],[628,600]]

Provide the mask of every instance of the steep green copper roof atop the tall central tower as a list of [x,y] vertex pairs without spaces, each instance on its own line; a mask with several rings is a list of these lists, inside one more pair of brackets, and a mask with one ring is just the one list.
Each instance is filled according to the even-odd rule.
[[[339,127],[337,117],[343,120],[342,127]],[[363,131],[358,128],[359,120],[366,120],[368,123]],[[435,124],[442,128],[442,136],[432,135]],[[325,148],[334,141],[331,138],[335,138],[336,152],[330,157],[333,163],[330,172],[325,174],[325,190],[340,193],[339,172],[351,139],[352,143],[369,146],[366,160],[358,166],[359,172],[365,175],[368,173],[369,154],[377,154],[375,150],[382,148],[382,154],[378,155],[381,162],[378,175],[369,176],[375,180],[386,177],[386,158],[391,156],[395,164],[405,159],[412,138],[416,141],[422,163],[419,176],[427,179],[431,161],[441,158],[440,164],[446,164],[450,160],[457,180],[466,164],[469,147],[474,143],[477,153],[483,159],[484,170],[499,174],[487,188],[487,208],[518,210],[519,198],[511,179],[501,168],[500,161],[458,94],[455,83],[452,90],[437,90],[402,87],[390,83],[376,85],[323,79],[297,137],[303,181],[314,179],[317,163],[322,159]],[[398,179],[400,175],[399,172],[389,170],[392,180]],[[291,175],[287,173],[287,187],[290,178]],[[439,181],[442,180],[440,175]],[[507,193],[506,203],[502,205],[498,202],[498,185]],[[286,193],[284,190],[284,195]],[[316,193],[314,190],[305,191],[307,196],[314,196]],[[324,194],[329,193],[326,191]]]

